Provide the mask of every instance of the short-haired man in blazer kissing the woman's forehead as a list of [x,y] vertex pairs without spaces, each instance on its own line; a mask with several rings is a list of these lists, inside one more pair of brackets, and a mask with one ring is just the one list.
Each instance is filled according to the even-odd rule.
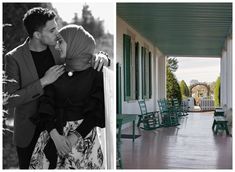
[[[29,38],[6,55],[6,75],[16,80],[6,84],[5,92],[16,95],[8,100],[7,106],[15,108],[14,144],[20,169],[29,168],[32,152],[42,131],[42,127],[35,126],[29,118],[37,113],[43,88],[64,73],[63,59],[59,58],[55,45],[58,40],[61,47],[66,43],[58,35],[55,17],[55,13],[48,9],[30,9],[23,19]],[[108,59],[100,54],[96,56],[94,67],[100,70],[103,65],[108,65]],[[54,130],[50,135],[57,140],[56,148],[61,154],[70,151],[71,145],[66,137]]]

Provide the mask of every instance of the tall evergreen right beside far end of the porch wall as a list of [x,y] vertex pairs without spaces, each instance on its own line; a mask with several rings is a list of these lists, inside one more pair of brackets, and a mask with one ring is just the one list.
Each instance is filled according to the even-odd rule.
[[178,61],[176,58],[168,58],[167,59],[167,99],[177,98],[179,102],[181,102],[181,91],[180,86],[177,81],[176,76],[173,72],[178,69]]

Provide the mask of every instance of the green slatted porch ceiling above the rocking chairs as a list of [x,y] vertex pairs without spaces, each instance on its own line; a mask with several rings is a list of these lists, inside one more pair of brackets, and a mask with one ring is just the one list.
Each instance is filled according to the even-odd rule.
[[117,15],[167,56],[220,57],[232,3],[117,3]]

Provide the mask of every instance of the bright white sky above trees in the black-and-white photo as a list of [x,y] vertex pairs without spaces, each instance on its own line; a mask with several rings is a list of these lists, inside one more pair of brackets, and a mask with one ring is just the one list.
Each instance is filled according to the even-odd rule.
[[[82,7],[84,4],[84,2],[52,2],[52,6],[57,9],[60,17],[67,22],[72,21],[75,12],[78,13],[79,18],[82,16]],[[105,31],[114,34],[114,24],[116,22],[115,4],[113,2],[87,2],[86,4],[89,5],[89,9],[95,18],[104,20]]]

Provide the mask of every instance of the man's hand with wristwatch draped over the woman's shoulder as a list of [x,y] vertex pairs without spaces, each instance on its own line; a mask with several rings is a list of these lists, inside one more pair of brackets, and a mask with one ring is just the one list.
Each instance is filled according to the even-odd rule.
[[108,54],[100,51],[98,54],[95,54],[95,64],[94,64],[94,69],[97,71],[100,71],[100,69],[103,66],[108,66],[109,60],[108,60]]

